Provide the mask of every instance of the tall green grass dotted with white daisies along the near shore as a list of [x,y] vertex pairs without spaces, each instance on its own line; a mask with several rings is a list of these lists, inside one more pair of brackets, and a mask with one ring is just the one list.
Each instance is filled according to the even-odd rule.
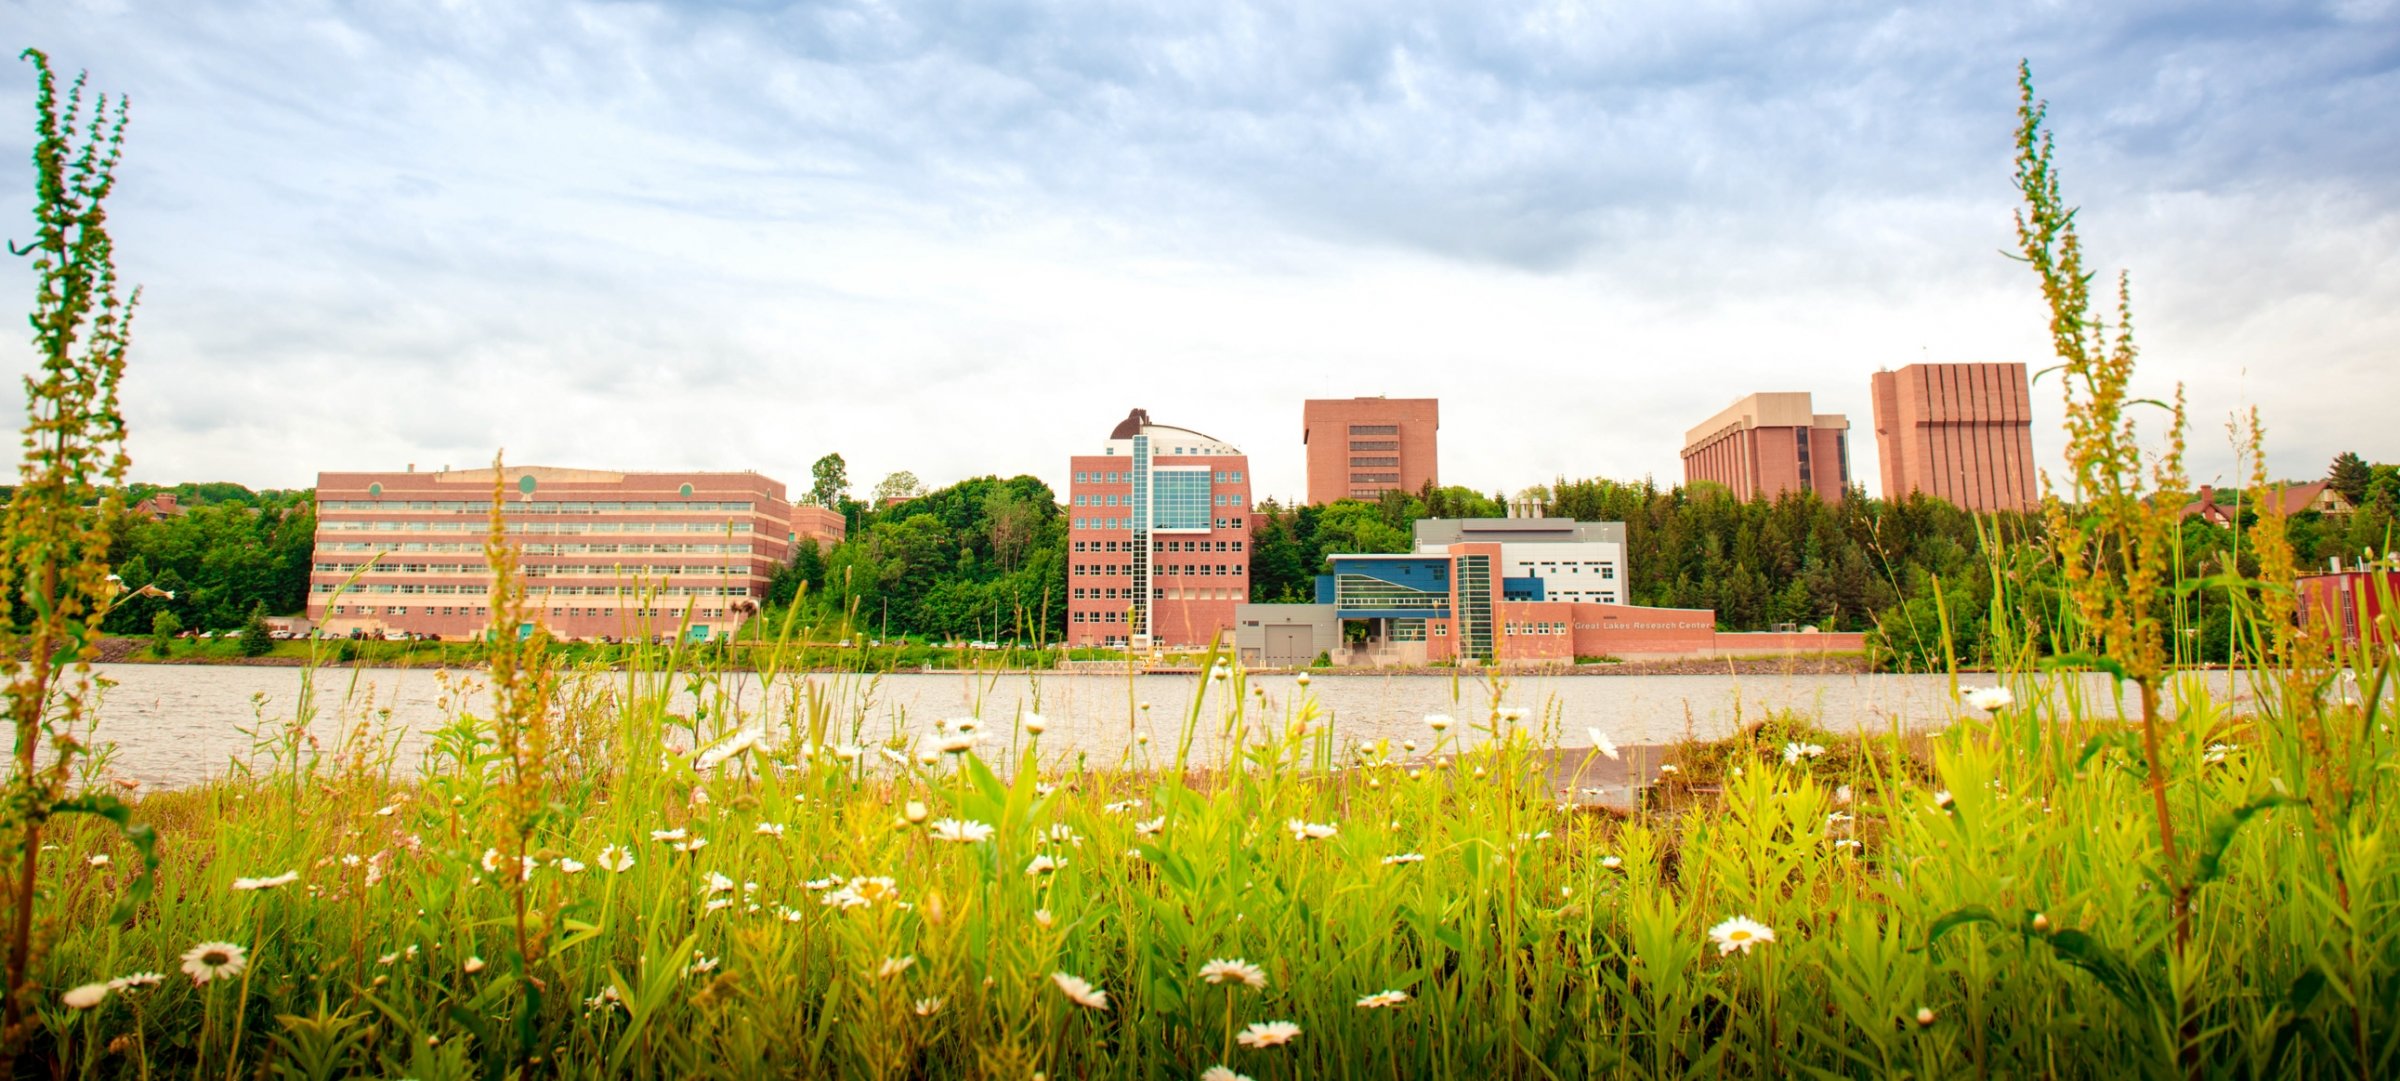
[[[2021,135],[2059,300],[2030,84]],[[1550,788],[1606,718],[1505,682],[1418,749],[1349,745],[1306,682],[1265,701],[1212,656],[1171,745],[1097,766],[1044,742],[1037,680],[1027,713],[902,718],[773,646],[557,670],[497,615],[420,762],[336,716],[331,757],[269,740],[139,800],[156,894],[122,913],[142,853],[50,824],[22,1045],[226,1079],[2393,1076],[2400,627],[2299,622],[2273,516],[2256,579],[2179,577],[2172,468],[2129,478],[2131,339],[2076,312],[2088,473],[2047,553],[2076,577],[2030,596],[1994,557],[2014,694],[1961,687],[1937,737],[1769,718],[1613,814]],[[2191,589],[2237,605],[2246,697],[2167,694]],[[2033,661],[2035,617],[2131,721]]]

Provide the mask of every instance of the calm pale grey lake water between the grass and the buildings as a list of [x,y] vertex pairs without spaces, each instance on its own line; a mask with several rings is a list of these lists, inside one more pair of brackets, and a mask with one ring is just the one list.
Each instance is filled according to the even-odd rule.
[[[242,728],[286,725],[295,716],[300,699],[298,668],[235,668],[235,665],[96,665],[98,675],[113,680],[98,709],[98,740],[115,745],[115,776],[142,781],[144,786],[190,786],[211,776],[223,776],[233,762],[252,754],[252,737]],[[463,692],[446,694],[442,677],[432,670],[398,668],[329,668],[317,673],[317,721],[310,733],[331,747],[343,728],[360,721],[389,725],[401,747],[401,764],[415,764],[427,745],[427,730],[446,718],[444,701],[470,701],[480,706],[480,673],[454,673],[451,687],[470,682]],[[1116,764],[1128,747],[1152,762],[1171,762],[1176,737],[1193,711],[1195,694],[1202,694],[1198,675],[967,675],[967,673],[907,673],[881,677],[830,677],[804,675],[816,694],[835,701],[835,718],[842,737],[857,733],[866,742],[890,733],[929,735],[936,718],[982,716],[986,733],[1006,737],[1013,718],[1039,704],[1046,721],[1042,737],[1044,757],[1087,754],[1094,764]],[[624,677],[614,677],[624,685]],[[1961,687],[1990,685],[1992,677],[1961,677]],[[2225,697],[2225,675],[2208,680],[2210,694]],[[768,728],[768,740],[782,733],[792,716],[794,677],[780,677],[775,687],[761,687],[749,673],[732,673],[720,697],[732,713]],[[1229,709],[1229,682],[1207,687],[1200,697],[1195,762],[1217,757],[1214,733]],[[1483,723],[1493,709],[1493,685],[1447,675],[1315,675],[1303,689],[1291,675],[1260,675],[1250,680],[1253,697],[1248,716],[1272,718],[1282,728],[1284,718],[1313,699],[1337,745],[1373,742],[1390,737],[1421,740],[1430,745],[1428,713],[1450,713],[1459,721],[1452,735],[1474,740],[1471,728]],[[1553,725],[1558,742],[1567,747],[1589,745],[1586,728],[1608,733],[1620,745],[1675,742],[1685,735],[1721,737],[1740,728],[1742,718],[1759,718],[1766,711],[1790,709],[1814,718],[1822,728],[1848,730],[1930,730],[1961,713],[1949,697],[1949,677],[1942,675],[1553,675],[1510,677],[1500,687],[1502,706],[1531,711],[1529,725]],[[2033,687],[2016,687],[2018,697],[2035,694]],[[2114,709],[2105,675],[2054,680],[2047,694],[2083,694],[2105,713]],[[677,713],[689,716],[696,699],[677,694]],[[1140,709],[1140,704],[1150,709]],[[1150,735],[1147,745],[1138,735]],[[689,742],[689,735],[686,735]]]

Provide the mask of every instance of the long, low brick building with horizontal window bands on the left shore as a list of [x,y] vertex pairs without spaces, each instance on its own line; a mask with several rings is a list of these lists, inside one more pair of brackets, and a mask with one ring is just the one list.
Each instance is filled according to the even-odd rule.
[[[490,625],[490,468],[317,473],[307,615],[329,634],[470,639]],[[562,639],[727,634],[766,598],[792,543],[842,538],[758,473],[509,468],[506,531],[535,620]]]

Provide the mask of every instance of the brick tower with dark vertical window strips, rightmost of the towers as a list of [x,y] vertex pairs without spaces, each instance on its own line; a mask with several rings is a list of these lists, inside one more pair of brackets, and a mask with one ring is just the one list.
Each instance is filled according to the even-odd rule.
[[1886,500],[1925,492],[1978,512],[2040,502],[2026,365],[1874,372],[1874,449]]

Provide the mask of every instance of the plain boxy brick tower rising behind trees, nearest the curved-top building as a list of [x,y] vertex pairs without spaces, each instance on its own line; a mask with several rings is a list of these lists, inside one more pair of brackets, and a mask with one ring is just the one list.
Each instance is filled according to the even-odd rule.
[[1440,428],[1438,399],[1308,399],[1301,406],[1308,502],[1375,500],[1442,483]]

